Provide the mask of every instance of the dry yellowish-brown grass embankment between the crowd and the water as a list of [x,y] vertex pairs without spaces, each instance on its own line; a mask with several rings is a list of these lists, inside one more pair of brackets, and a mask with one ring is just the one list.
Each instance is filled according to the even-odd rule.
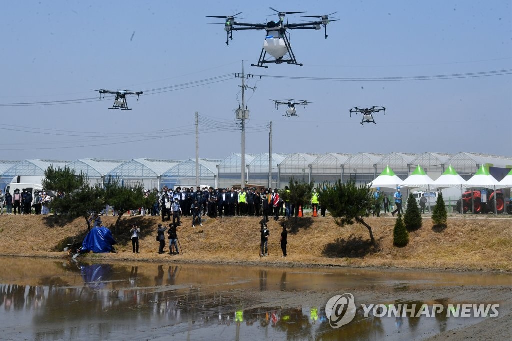
[[[116,217],[117,218],[117,217]],[[113,226],[115,217],[103,217]],[[332,218],[300,218],[286,222],[288,257],[281,258],[282,227],[271,220],[270,257],[259,257],[260,219],[209,219],[204,227],[191,228],[190,218],[182,219],[178,236],[184,254],[158,254],[156,226],[160,217],[127,217],[116,236],[118,253],[90,254],[108,260],[182,261],[189,263],[245,263],[275,266],[354,266],[417,269],[512,271],[512,219],[451,218],[448,228],[435,231],[432,220],[410,233],[409,245],[393,247],[391,217],[368,218],[377,246],[369,244],[368,230],[361,225],[338,227]],[[141,227],[140,253],[133,254],[130,223]],[[65,257],[62,245],[69,238],[87,233],[84,219],[56,222],[55,217],[2,216],[0,255]],[[167,241],[168,244],[168,241]],[[166,246],[168,250],[168,245]]]

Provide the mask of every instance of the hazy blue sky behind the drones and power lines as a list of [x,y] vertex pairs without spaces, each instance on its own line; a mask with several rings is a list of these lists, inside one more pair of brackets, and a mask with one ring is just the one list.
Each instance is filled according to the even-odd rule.
[[[257,63],[264,31],[234,32],[226,46],[222,19],[277,19],[268,7],[338,12],[323,31],[291,31],[303,67]],[[512,69],[511,1],[23,1],[0,12],[0,159],[195,158],[240,153],[234,122],[245,72],[251,112],[246,152],[458,153],[512,156],[512,75],[413,81],[390,78]],[[290,23],[298,15],[287,16]],[[270,78],[317,77],[331,80]],[[219,78],[217,78],[219,77]],[[211,80],[208,80],[211,79]],[[207,84],[208,83],[208,84]],[[185,85],[188,84],[188,85]],[[187,89],[185,89],[187,88]],[[93,89],[129,89],[132,111]],[[156,91],[156,89],[162,89]],[[153,91],[152,91],[153,90]],[[170,91],[173,90],[173,91]],[[238,97],[237,97],[238,95]],[[283,117],[271,99],[311,102]],[[59,105],[6,105],[87,99]],[[45,103],[48,104],[48,103]],[[382,105],[377,125],[350,118],[354,106]]]

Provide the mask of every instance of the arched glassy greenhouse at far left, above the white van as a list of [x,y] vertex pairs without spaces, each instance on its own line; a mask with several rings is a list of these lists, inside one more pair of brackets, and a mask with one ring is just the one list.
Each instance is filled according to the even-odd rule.
[[54,168],[64,168],[68,163],[69,161],[39,159],[19,162],[2,174],[2,179],[0,180],[2,184],[0,185],[0,188],[5,188],[15,177],[20,177],[19,179],[16,179],[15,182],[40,184],[41,180],[45,177],[45,172],[48,167],[53,166]]

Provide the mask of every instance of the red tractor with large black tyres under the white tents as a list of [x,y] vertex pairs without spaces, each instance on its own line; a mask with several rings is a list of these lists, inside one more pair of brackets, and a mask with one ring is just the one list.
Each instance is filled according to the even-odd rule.
[[467,191],[462,195],[462,199],[457,201],[454,212],[460,212],[461,202],[464,202],[464,214],[473,212],[473,207],[475,208],[474,213],[494,213],[495,205],[497,213],[505,211],[505,196],[501,190],[487,189],[486,205],[482,203],[482,192],[480,190]]

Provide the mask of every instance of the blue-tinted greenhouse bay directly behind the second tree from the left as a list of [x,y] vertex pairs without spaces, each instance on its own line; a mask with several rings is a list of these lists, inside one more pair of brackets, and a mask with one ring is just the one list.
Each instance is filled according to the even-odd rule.
[[175,160],[133,159],[112,169],[105,175],[105,180],[119,179],[123,186],[142,185],[144,189],[161,188],[160,179],[162,174],[180,162]]

